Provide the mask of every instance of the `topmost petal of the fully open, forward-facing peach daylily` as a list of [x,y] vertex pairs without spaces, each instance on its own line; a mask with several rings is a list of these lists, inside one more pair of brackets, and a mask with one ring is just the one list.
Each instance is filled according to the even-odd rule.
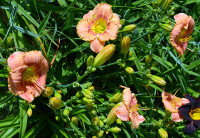
[[103,18],[108,21],[113,16],[111,5],[107,3],[100,3],[94,8],[93,20],[96,21],[99,18]]

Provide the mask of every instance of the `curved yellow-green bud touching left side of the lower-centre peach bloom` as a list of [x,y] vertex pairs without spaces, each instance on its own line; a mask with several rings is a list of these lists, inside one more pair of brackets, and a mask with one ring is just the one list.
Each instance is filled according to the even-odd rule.
[[108,116],[107,116],[107,124],[111,125],[113,122],[115,122],[115,120],[117,119],[117,115],[116,115],[116,111],[117,108],[121,105],[121,103],[115,105],[109,112]]

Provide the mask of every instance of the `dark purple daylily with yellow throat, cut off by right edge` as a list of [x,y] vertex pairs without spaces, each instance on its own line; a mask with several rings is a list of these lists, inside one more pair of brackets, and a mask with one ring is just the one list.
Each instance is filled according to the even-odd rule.
[[197,99],[190,95],[185,95],[185,97],[190,103],[181,106],[178,110],[187,120],[184,133],[192,135],[197,128],[200,128],[200,96]]

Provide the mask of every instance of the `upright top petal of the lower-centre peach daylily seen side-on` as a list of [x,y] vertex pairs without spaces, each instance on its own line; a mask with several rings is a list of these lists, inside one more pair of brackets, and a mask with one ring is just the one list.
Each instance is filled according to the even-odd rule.
[[127,106],[127,109],[130,108],[132,101],[132,95],[130,88],[126,88],[123,90],[123,103]]

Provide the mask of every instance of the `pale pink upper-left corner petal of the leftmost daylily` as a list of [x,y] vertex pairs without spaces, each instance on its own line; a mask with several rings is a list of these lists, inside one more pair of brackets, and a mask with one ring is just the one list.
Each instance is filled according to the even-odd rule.
[[24,52],[15,52],[11,54],[8,58],[8,66],[11,70],[14,70],[23,64],[23,55]]

